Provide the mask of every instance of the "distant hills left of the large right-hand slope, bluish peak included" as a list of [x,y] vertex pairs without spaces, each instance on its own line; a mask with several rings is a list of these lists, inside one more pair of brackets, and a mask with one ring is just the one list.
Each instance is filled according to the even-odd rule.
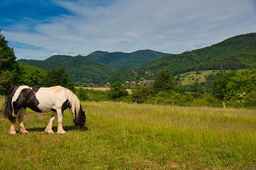
[[95,51],[87,56],[53,55],[46,60],[18,60],[18,62],[41,69],[64,67],[74,81],[102,84],[112,80],[119,69],[135,69],[166,55],[169,54],[152,50],[130,53]]

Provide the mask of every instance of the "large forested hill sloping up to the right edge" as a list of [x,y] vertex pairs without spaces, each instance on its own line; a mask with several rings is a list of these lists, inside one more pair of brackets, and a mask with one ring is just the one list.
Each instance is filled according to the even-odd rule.
[[171,74],[207,69],[256,68],[256,33],[238,35],[198,50],[170,55],[138,69],[141,77],[155,77],[166,69]]

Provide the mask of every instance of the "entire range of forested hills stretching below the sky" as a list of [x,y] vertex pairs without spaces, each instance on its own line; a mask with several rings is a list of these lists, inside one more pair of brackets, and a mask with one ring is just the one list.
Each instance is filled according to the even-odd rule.
[[46,60],[18,60],[41,69],[64,67],[74,81],[105,84],[107,81],[154,79],[163,69],[171,74],[194,70],[256,68],[256,33],[228,38],[215,45],[178,55],[152,50],[95,51],[87,56],[54,55]]

